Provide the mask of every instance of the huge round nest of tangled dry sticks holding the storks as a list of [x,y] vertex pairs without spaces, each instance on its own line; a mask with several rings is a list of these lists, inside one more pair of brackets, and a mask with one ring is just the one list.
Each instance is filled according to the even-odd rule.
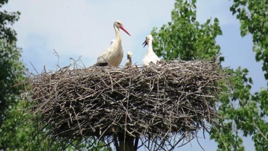
[[198,130],[206,130],[206,121],[217,117],[217,86],[224,78],[217,63],[69,67],[29,78],[33,120],[46,125],[52,138],[136,138],[149,150],[150,143],[152,150],[168,150],[196,137]]

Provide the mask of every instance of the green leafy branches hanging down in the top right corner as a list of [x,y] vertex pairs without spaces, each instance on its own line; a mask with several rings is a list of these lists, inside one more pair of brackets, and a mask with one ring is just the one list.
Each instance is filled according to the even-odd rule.
[[[256,61],[263,62],[264,77],[268,80],[268,1],[235,0],[230,11],[240,20],[241,36],[253,35]],[[248,10],[248,11],[247,11]],[[268,83],[267,83],[268,84]]]

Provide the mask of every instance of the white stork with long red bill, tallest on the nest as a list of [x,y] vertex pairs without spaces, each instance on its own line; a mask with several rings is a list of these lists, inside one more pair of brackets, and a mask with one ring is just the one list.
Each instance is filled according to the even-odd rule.
[[125,31],[127,34],[129,34],[129,32],[124,28],[120,20],[115,21],[114,28],[115,28],[115,39],[111,41],[110,47],[101,53],[101,55],[97,59],[97,63],[94,64],[93,66],[117,67],[121,63],[124,55],[123,55],[121,34],[119,28]]

